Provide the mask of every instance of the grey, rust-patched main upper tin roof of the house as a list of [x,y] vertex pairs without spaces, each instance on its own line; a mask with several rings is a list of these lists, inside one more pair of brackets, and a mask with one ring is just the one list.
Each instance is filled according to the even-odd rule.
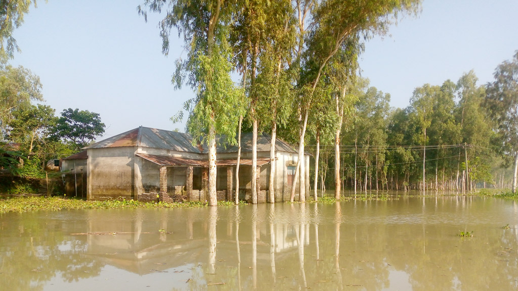
[[[218,139],[221,139],[218,138]],[[140,126],[125,133],[112,136],[105,140],[91,144],[84,149],[114,148],[114,147],[148,147],[157,149],[168,149],[179,152],[208,153],[207,147],[202,145],[193,146],[193,138],[190,134],[171,132],[164,129],[156,129]],[[271,136],[263,134],[257,137],[257,151],[270,151]],[[276,151],[297,153],[289,144],[281,139],[275,143]],[[237,152],[237,146],[217,146],[217,153]],[[252,133],[241,135],[241,152],[252,151]]]

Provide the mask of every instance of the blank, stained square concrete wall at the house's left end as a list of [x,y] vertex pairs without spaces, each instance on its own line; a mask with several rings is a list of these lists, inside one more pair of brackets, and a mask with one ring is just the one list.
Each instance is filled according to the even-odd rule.
[[135,147],[88,149],[87,199],[135,196]]

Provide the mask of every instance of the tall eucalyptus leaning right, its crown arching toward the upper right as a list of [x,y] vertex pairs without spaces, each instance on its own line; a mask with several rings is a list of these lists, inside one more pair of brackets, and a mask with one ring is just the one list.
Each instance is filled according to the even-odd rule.
[[[420,1],[361,1],[343,3],[342,0],[295,1],[299,19],[299,46],[297,56],[301,57],[301,77],[298,78],[298,104],[300,110],[299,158],[293,181],[290,201],[295,196],[295,185],[305,183],[304,138],[311,100],[319,83],[324,67],[343,46],[344,41],[358,32],[364,35],[386,32],[398,12],[416,12]],[[311,14],[308,17],[308,13]],[[305,17],[308,17],[307,19]],[[305,26],[308,21],[308,26]],[[307,28],[306,28],[307,27]],[[300,173],[299,173],[300,172]],[[305,187],[300,187],[300,197],[305,199]]]

